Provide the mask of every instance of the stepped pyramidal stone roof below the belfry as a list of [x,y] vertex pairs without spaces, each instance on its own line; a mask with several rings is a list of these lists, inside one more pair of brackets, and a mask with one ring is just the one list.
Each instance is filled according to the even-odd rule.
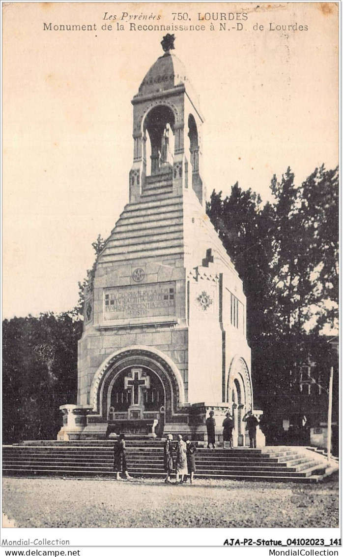
[[[228,263],[228,256],[195,193],[183,196],[146,196],[140,203],[128,203],[106,241],[98,265],[137,259],[173,264],[183,261],[188,268],[201,265],[210,246],[216,258]],[[190,226],[196,221],[196,234]],[[214,249],[213,249],[214,248]],[[234,271],[233,265],[230,265]]]

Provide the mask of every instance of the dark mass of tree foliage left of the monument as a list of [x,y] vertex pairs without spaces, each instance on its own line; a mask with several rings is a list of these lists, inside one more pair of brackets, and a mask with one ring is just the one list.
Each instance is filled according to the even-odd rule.
[[76,401],[82,321],[41,314],[3,321],[3,442],[56,439],[59,406]]

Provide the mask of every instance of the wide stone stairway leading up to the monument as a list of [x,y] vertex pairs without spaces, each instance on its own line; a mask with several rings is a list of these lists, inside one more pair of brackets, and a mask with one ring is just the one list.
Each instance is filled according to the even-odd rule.
[[[114,441],[31,441],[3,447],[4,476],[114,477]],[[163,441],[126,442],[131,476],[163,477]],[[335,466],[304,447],[198,447],[196,477],[317,482]],[[338,468],[338,465],[337,465]]]

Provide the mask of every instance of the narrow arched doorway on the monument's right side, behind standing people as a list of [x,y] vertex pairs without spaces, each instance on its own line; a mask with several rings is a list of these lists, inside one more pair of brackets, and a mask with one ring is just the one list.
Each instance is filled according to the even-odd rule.
[[245,422],[243,417],[252,410],[252,387],[250,373],[243,358],[233,358],[227,379],[227,402],[232,402],[232,416],[235,423],[233,445],[246,445]]

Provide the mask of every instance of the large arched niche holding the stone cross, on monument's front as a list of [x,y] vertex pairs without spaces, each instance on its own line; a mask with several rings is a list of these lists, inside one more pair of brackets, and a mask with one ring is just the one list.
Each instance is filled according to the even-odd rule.
[[116,433],[162,436],[185,400],[175,363],[155,348],[132,346],[98,368],[91,387],[93,412]]

